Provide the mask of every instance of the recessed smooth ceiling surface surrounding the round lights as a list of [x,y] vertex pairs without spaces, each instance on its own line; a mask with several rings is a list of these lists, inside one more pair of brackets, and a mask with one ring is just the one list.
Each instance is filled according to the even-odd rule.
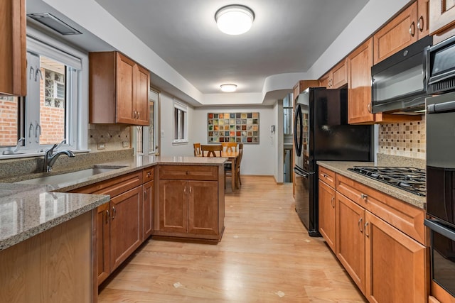
[[[368,0],[95,0],[203,94],[220,84],[262,92],[270,75],[306,72]],[[218,31],[215,11],[255,12],[243,35]]]

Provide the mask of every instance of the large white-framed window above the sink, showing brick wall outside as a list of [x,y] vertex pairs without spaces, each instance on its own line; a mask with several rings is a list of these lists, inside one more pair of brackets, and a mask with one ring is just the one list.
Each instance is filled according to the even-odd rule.
[[[87,148],[87,54],[43,33],[27,28],[27,96],[0,99],[0,150],[42,153],[55,143],[65,148]],[[82,96],[84,96],[82,98]]]

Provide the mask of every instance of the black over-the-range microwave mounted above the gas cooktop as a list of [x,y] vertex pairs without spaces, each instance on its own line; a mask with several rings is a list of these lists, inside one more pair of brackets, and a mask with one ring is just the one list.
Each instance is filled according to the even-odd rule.
[[371,109],[373,114],[391,112],[424,113],[427,94],[426,36],[371,67]]

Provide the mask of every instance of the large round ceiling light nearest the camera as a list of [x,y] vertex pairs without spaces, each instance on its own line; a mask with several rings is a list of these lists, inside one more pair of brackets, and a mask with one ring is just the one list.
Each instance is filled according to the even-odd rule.
[[218,28],[228,35],[240,35],[250,31],[253,20],[255,20],[255,13],[243,5],[223,6],[215,13]]

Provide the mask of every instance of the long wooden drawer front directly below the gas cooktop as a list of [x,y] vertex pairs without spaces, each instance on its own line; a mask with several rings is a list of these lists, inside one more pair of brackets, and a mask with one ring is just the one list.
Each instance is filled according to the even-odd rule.
[[336,190],[414,240],[425,244],[423,209],[342,175],[336,176]]

